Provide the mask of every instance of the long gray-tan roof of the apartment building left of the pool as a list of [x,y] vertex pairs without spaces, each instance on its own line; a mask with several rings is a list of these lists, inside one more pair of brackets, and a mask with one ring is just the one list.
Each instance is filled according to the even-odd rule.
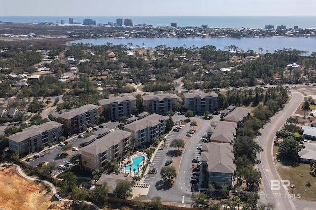
[[126,139],[131,135],[130,132],[123,130],[114,130],[111,133],[101,137],[100,139],[96,139],[93,143],[81,149],[81,151],[85,151],[90,154],[100,154],[106,150],[108,150],[111,146],[117,145],[120,140]]

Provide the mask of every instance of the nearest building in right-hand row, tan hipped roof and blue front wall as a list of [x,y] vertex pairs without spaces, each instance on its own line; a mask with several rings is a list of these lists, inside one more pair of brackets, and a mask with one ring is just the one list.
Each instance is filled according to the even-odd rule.
[[[236,165],[233,163],[233,146],[225,143],[203,143],[201,153],[200,184],[213,183],[215,186],[222,184],[233,185],[233,175]],[[200,172],[200,173],[201,173]]]

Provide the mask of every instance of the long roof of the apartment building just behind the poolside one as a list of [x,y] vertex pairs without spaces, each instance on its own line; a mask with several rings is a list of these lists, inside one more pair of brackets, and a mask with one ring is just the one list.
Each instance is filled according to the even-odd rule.
[[167,119],[167,116],[158,115],[158,114],[151,114],[149,116],[146,116],[145,118],[142,118],[140,120],[136,120],[128,125],[125,125],[124,128],[127,128],[129,130],[133,131],[139,131],[143,130],[147,127],[154,127],[158,124],[160,124],[161,120]]

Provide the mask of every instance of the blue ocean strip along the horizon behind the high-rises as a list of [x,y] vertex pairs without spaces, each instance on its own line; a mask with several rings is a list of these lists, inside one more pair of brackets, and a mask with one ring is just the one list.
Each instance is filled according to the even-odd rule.
[[171,26],[176,23],[178,27],[222,27],[222,28],[265,28],[265,25],[279,25],[287,28],[316,28],[316,16],[0,16],[2,22],[13,23],[55,23],[64,20],[69,23],[83,23],[86,18],[93,19],[97,24],[116,23],[117,18],[132,19],[133,25],[147,24],[152,26]]

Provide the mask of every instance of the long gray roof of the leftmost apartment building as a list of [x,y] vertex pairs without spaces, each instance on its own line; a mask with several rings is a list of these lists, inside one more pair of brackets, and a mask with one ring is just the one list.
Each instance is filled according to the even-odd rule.
[[41,125],[33,125],[31,127],[25,128],[21,132],[9,136],[8,139],[14,142],[22,142],[25,139],[37,136],[45,131],[55,129],[60,126],[63,126],[63,124],[55,121],[45,122]]

